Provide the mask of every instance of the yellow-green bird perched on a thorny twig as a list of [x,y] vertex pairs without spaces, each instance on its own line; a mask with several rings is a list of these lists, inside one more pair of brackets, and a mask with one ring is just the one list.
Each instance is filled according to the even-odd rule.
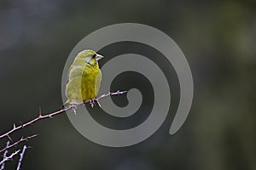
[[85,49],[75,57],[68,70],[66,85],[67,101],[64,105],[79,105],[90,102],[93,107],[102,82],[102,71],[98,61],[104,57],[94,50]]

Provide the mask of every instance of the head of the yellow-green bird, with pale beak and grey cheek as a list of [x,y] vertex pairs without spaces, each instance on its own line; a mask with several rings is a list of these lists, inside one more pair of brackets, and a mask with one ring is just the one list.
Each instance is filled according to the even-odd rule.
[[98,65],[98,60],[102,59],[103,56],[100,54],[96,54],[95,51],[90,49],[85,49],[84,51],[81,51],[77,59],[79,62],[83,62],[85,65],[95,66]]

